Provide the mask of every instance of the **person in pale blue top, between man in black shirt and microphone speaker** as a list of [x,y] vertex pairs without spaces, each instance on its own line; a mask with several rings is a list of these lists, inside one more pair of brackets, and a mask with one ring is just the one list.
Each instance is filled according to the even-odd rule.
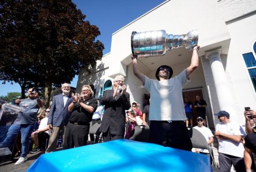
[[[104,106],[100,105],[100,100],[99,99],[97,99],[97,105],[98,105],[98,107],[92,115],[92,122],[91,122],[90,128],[96,123],[98,123],[98,124],[101,123],[101,116],[104,113]],[[99,133],[96,134],[96,138],[94,138],[94,134],[89,134],[89,135],[90,135],[90,139],[91,139],[92,142],[95,141],[95,143],[97,143],[99,141]]]

